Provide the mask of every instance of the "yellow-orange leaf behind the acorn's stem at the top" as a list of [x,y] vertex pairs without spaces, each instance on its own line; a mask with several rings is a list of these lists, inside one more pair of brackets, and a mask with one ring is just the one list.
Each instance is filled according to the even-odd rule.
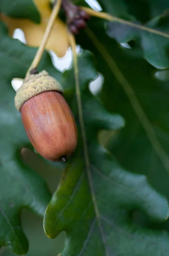
[[[34,0],[34,3],[41,15],[40,24],[36,24],[33,21],[27,19],[11,18],[3,14],[1,14],[0,17],[8,26],[10,35],[13,34],[14,29],[23,29],[27,44],[32,47],[38,47],[51,15],[51,9],[49,0]],[[57,18],[54,23],[50,38],[48,39],[46,49],[52,49],[59,57],[63,57],[68,47],[69,43],[66,25],[59,18]]]

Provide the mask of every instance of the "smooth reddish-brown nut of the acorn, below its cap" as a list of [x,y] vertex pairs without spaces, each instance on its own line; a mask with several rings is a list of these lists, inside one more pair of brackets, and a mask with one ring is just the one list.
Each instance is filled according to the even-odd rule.
[[64,97],[55,91],[40,93],[21,107],[25,131],[39,154],[61,161],[76,149],[77,131],[73,114]]

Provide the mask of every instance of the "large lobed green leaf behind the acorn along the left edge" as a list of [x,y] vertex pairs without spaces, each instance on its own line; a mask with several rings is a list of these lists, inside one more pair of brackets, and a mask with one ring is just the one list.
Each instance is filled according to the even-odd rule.
[[[24,78],[37,49],[9,38],[2,23],[0,36],[0,247],[24,254],[28,241],[21,226],[21,209],[28,208],[43,216],[51,195],[44,180],[23,164],[21,149],[31,144],[14,106],[11,79]],[[46,70],[56,76],[57,71],[47,52],[39,69],[46,66]]]

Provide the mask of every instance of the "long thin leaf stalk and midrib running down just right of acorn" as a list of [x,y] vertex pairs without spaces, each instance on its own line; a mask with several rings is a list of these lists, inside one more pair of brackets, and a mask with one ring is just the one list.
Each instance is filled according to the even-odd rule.
[[70,32],[68,34],[68,39],[70,42],[70,47],[73,52],[76,97],[77,97],[77,105],[78,105],[78,112],[79,112],[80,128],[81,128],[81,132],[82,132],[82,141],[83,141],[83,150],[84,150],[85,165],[86,165],[86,170],[87,170],[87,177],[88,177],[88,181],[89,181],[89,187],[90,187],[93,207],[94,207],[95,214],[96,214],[96,220],[98,222],[99,230],[101,233],[101,238],[102,238],[102,241],[104,244],[105,256],[110,256],[108,248],[107,248],[106,237],[105,237],[104,230],[103,230],[103,227],[101,224],[101,216],[100,216],[99,208],[98,208],[97,201],[96,201],[96,195],[95,195],[95,191],[94,191],[94,185],[93,185],[93,180],[92,180],[92,175],[91,175],[91,170],[90,170],[90,160],[89,160],[89,154],[88,154],[88,148],[87,148],[87,137],[86,137],[86,131],[85,131],[85,123],[84,123],[84,119],[83,119],[82,100],[81,100],[81,93],[80,93],[80,86],[79,86],[79,70],[78,70],[78,60],[77,60],[77,53],[76,53],[76,41],[75,41],[73,34],[70,34]]

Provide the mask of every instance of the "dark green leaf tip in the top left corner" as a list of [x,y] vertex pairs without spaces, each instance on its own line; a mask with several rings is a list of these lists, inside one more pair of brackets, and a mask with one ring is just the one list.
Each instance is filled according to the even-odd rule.
[[40,15],[33,0],[1,0],[0,12],[14,18],[27,18],[40,23]]

